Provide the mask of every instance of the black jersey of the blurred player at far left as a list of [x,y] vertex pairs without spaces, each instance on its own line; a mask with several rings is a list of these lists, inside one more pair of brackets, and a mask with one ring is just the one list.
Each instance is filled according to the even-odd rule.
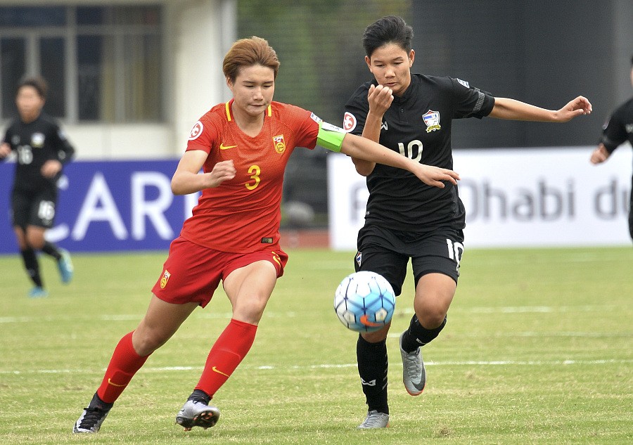
[[42,165],[53,159],[65,164],[75,154],[58,124],[44,113],[28,124],[15,120],[6,130],[4,141],[17,155],[15,190],[32,191],[56,186],[57,178],[41,175]]

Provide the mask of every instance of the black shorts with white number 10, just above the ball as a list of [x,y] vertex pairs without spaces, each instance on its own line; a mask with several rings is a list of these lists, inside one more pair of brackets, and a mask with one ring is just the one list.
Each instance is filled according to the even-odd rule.
[[389,281],[395,295],[400,295],[409,258],[415,285],[427,273],[443,273],[457,283],[462,254],[461,230],[440,228],[428,233],[409,233],[364,226],[358,233],[354,268],[380,273]]

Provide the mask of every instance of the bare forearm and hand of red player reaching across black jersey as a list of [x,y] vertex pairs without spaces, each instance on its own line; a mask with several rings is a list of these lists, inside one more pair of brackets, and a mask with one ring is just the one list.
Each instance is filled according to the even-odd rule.
[[459,174],[452,170],[420,164],[419,162],[381,146],[379,143],[354,134],[345,134],[343,143],[340,146],[340,153],[345,153],[346,155],[358,159],[408,170],[415,174],[423,183],[438,188],[444,188],[444,183],[441,181],[449,181],[456,184],[459,179]]

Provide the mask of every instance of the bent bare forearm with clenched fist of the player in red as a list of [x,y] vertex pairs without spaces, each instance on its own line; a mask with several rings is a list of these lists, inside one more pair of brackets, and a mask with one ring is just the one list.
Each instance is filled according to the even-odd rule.
[[207,156],[208,154],[203,150],[189,150],[182,155],[176,172],[172,176],[174,195],[188,195],[205,188],[217,187],[235,177],[236,169],[232,160],[218,162],[211,172],[200,174]]

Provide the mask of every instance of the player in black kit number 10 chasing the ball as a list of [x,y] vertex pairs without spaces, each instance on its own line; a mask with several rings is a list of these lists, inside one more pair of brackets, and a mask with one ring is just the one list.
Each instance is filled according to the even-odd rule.
[[[412,37],[412,28],[395,16],[381,18],[366,28],[365,61],[375,79],[359,86],[345,105],[345,130],[379,141],[418,162],[452,169],[454,119],[492,116],[567,122],[592,110],[582,96],[560,110],[545,110],[509,98],[494,98],[460,79],[411,74],[415,57]],[[380,273],[399,295],[411,259],[415,315],[400,335],[399,344],[404,387],[415,396],[426,384],[420,347],[444,328],[455,294],[465,210],[453,184],[428,187],[404,170],[352,160],[357,172],[367,176],[369,188],[355,269]],[[358,370],[369,407],[359,428],[388,426],[388,330],[386,326],[358,338]]]

